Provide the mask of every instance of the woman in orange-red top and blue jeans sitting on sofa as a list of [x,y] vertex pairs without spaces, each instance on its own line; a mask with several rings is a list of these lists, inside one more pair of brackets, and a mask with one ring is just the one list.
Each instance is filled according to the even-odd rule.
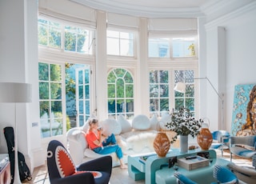
[[122,160],[122,150],[116,144],[117,141],[114,134],[110,134],[109,137],[102,141],[102,129],[98,127],[98,120],[95,118],[90,119],[89,126],[90,128],[87,130],[85,137],[90,149],[94,150],[97,154],[111,154],[115,152],[119,158],[121,168],[126,169],[127,166]]

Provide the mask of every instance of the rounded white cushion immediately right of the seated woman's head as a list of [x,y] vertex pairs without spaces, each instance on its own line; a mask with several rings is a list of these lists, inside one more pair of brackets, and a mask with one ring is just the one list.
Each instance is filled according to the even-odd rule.
[[115,119],[106,119],[102,122],[102,134],[105,136],[121,134],[121,131],[121,124]]

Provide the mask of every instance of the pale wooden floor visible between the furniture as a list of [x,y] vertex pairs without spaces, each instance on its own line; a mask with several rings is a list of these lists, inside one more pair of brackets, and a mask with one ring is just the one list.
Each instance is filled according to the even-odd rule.
[[[221,151],[217,152],[218,157],[222,157]],[[230,160],[230,152],[229,150],[225,150],[223,154],[223,158]],[[251,160],[243,159],[238,157],[233,157],[233,162],[241,166],[251,166]],[[39,166],[34,169],[34,173],[32,175],[32,181],[30,182],[22,182],[22,183],[37,183],[37,184],[50,184],[48,173],[47,173],[47,166]],[[120,169],[120,167],[114,167],[112,170],[110,183],[126,183],[126,184],[134,184],[134,183],[145,183],[144,180],[139,182],[134,182],[132,178],[128,175],[127,169]]]

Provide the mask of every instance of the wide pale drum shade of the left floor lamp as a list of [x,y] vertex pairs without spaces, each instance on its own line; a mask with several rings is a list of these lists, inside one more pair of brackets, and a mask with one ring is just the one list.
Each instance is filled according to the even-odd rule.
[[31,94],[31,84],[18,82],[0,82],[0,102],[31,102]]

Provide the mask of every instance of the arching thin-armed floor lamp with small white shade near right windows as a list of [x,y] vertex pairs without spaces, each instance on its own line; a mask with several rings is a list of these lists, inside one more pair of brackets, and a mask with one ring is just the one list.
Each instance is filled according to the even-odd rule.
[[[222,102],[222,130],[223,130],[223,122],[224,122],[224,98],[223,95],[219,94],[218,91],[216,90],[216,88],[214,87],[214,85],[210,82],[209,78],[191,78],[191,79],[206,79],[206,81],[208,81],[210,83],[210,86],[212,86],[212,88],[214,89],[215,93],[218,95],[218,99]],[[186,92],[186,84],[184,82],[178,82],[176,84],[176,86],[174,87],[174,90],[180,92],[180,93],[185,93]]]

